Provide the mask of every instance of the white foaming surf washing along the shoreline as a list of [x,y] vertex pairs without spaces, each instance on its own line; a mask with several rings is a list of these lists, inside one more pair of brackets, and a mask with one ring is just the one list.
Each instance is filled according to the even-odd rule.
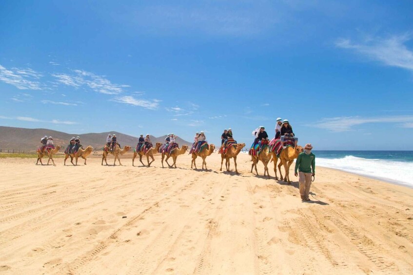
[[402,183],[413,187],[413,163],[378,159],[364,159],[345,156],[338,159],[315,159],[316,166],[335,168],[343,171]]

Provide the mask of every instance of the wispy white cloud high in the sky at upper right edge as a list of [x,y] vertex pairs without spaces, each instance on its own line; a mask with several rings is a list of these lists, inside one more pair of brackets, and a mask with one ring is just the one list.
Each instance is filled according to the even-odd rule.
[[387,66],[413,71],[413,52],[405,45],[411,38],[411,35],[389,38],[366,37],[360,42],[340,38],[336,40],[335,45],[339,48],[354,50],[358,54],[365,55]]

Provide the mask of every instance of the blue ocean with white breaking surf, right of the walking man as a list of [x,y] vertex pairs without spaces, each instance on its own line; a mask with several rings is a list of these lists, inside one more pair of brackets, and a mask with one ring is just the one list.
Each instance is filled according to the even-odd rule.
[[413,187],[413,151],[313,151],[315,166]]

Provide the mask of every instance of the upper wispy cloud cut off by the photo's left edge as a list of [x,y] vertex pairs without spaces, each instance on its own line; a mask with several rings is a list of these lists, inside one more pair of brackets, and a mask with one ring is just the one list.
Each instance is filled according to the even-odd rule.
[[0,65],[0,81],[13,85],[20,90],[42,90],[44,87],[38,81],[40,77],[42,77],[41,73],[30,68],[6,69]]

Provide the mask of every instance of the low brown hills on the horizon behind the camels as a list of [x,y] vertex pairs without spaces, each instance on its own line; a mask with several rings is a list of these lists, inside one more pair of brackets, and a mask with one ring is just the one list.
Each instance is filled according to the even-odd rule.
[[[118,143],[121,147],[129,145],[135,147],[138,143],[138,137],[122,134],[117,131],[108,131],[103,133],[87,133],[87,134],[68,134],[50,129],[28,129],[0,126],[0,149],[17,149],[17,150],[36,150],[40,146],[40,139],[47,135],[52,136],[55,145],[65,147],[69,144],[72,137],[80,136],[80,142],[83,146],[91,145],[96,150],[103,147],[106,143],[108,133],[116,134]],[[150,136],[151,141],[155,145],[157,142],[164,143],[166,135],[161,137]],[[189,143],[181,138],[176,139],[179,146],[188,145]]]

